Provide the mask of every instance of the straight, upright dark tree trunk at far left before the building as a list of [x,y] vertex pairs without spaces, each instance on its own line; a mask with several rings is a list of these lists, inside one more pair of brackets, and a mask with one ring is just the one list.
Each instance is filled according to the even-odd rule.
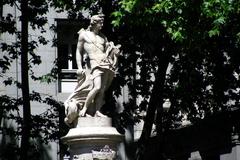
[[21,76],[22,76],[22,96],[23,96],[23,123],[22,123],[22,139],[21,139],[21,155],[20,160],[28,159],[30,124],[31,124],[31,108],[29,97],[29,78],[28,78],[28,0],[21,1]]

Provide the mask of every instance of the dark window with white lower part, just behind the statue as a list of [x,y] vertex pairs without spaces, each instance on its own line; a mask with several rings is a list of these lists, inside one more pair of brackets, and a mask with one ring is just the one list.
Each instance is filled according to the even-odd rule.
[[57,56],[61,73],[58,92],[72,92],[77,83],[76,47],[78,31],[85,28],[83,23],[73,20],[57,19]]

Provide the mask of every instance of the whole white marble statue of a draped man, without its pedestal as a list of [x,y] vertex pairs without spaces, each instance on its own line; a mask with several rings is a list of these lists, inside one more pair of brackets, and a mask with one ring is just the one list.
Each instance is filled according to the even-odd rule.
[[115,75],[121,45],[114,45],[101,33],[103,21],[104,15],[94,15],[89,27],[78,32],[78,84],[64,103],[65,122],[70,126],[76,126],[79,116],[106,117],[100,109]]

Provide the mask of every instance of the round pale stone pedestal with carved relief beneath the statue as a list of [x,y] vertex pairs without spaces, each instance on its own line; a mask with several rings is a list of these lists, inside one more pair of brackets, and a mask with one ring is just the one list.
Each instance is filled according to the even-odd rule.
[[114,160],[124,136],[112,127],[111,118],[80,117],[62,141],[70,148],[70,160]]

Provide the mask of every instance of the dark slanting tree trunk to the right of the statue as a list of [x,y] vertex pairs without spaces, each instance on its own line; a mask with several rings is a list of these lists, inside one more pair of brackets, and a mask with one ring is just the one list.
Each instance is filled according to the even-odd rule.
[[[159,60],[158,64],[158,70],[155,74],[155,82],[153,85],[151,98],[149,100],[149,105],[146,112],[146,117],[144,120],[143,130],[141,137],[138,141],[139,145],[136,152],[136,159],[137,160],[143,160],[146,147],[148,145],[149,138],[151,136],[152,132],[152,126],[156,118],[156,130],[157,135],[160,135],[162,132],[162,116],[163,116],[163,88],[164,88],[164,82],[166,78],[166,71],[168,67],[168,58],[165,56],[162,56]],[[157,116],[155,116],[155,113],[157,113]]]

